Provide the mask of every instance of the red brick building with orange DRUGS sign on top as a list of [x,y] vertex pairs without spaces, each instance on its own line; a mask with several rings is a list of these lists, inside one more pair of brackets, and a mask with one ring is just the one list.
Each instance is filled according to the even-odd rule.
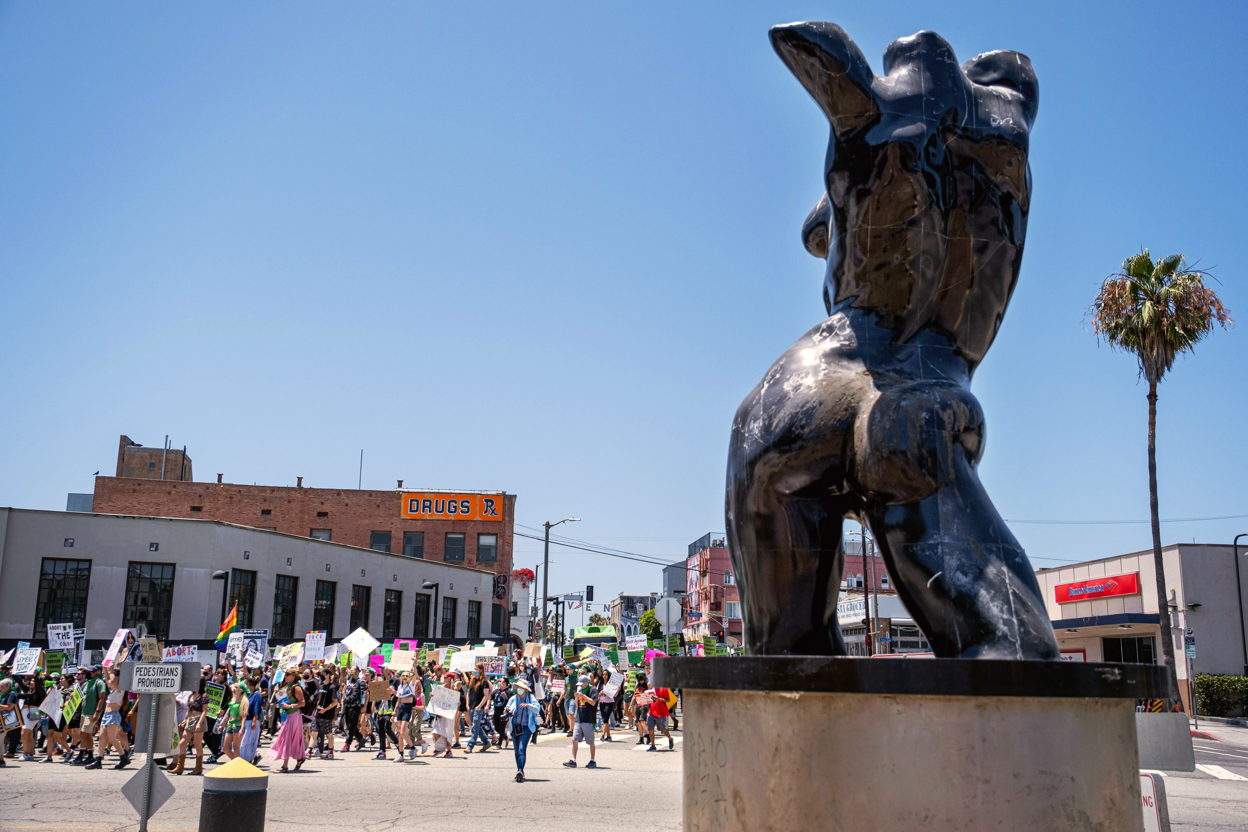
[[[302,476],[296,486],[240,485],[220,481],[220,475],[216,483],[144,479],[125,475],[136,452],[129,438],[121,442],[117,475],[95,478],[97,514],[222,520],[484,569],[495,575],[488,631],[509,630],[514,494],[417,491],[403,489],[403,480],[383,491],[303,488]],[[155,449],[157,457],[161,450]]]

